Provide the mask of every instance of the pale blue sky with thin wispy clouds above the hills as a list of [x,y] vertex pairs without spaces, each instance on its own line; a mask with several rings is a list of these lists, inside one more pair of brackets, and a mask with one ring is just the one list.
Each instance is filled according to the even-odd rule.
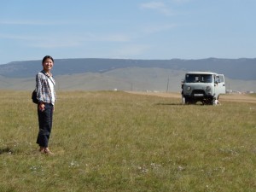
[[0,64],[256,57],[256,0],[0,0]]

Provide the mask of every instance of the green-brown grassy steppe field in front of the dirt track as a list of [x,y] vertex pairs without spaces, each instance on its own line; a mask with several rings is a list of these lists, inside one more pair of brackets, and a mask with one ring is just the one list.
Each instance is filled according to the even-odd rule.
[[58,93],[38,153],[31,93],[0,91],[0,191],[255,191],[256,103]]

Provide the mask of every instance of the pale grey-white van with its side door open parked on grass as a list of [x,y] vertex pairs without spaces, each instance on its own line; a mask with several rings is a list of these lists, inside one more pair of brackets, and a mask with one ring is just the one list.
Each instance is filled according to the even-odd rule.
[[219,95],[225,94],[224,75],[212,72],[188,72],[182,81],[182,100],[184,104],[215,103]]

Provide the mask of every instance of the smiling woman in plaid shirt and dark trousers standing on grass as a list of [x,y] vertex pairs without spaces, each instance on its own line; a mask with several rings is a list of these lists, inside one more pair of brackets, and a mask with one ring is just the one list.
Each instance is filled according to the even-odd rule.
[[43,70],[36,76],[39,122],[37,143],[41,153],[52,154],[48,148],[48,143],[56,100],[55,79],[53,79],[52,74],[50,73],[50,70],[54,66],[54,59],[51,56],[46,55],[44,56],[42,65]]

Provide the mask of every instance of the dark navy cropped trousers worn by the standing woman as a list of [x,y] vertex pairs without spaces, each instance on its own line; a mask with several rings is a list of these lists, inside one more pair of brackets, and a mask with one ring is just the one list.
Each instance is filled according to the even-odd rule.
[[37,143],[40,147],[48,148],[54,107],[52,104],[49,103],[45,103],[44,105],[44,111],[40,111],[38,109],[39,131]]

